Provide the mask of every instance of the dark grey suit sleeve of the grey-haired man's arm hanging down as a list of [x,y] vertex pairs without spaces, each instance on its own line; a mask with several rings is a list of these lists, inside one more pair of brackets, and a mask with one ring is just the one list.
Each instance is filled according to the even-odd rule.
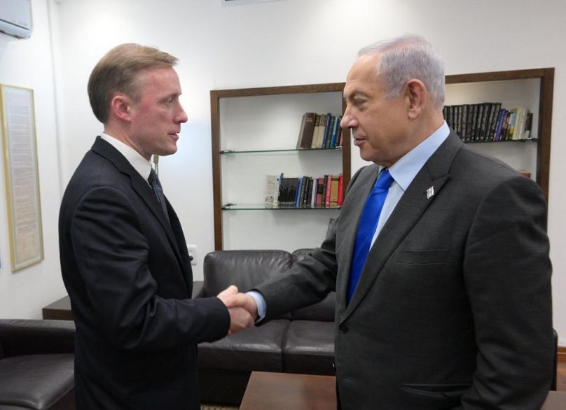
[[463,266],[477,369],[463,409],[539,409],[551,383],[551,262],[546,202],[517,176],[485,196]]

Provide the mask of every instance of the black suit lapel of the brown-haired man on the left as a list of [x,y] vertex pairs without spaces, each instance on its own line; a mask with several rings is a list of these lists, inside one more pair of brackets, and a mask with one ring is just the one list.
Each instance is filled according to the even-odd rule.
[[[114,166],[118,169],[118,171],[120,171],[122,174],[125,174],[130,177],[130,182],[132,183],[132,189],[137,193],[137,195],[139,195],[139,197],[141,197],[141,199],[144,201],[146,206],[151,210],[151,213],[153,213],[153,215],[159,221],[160,225],[163,227],[165,234],[167,234],[167,239],[169,239],[169,242],[174,250],[174,253],[177,256],[177,259],[179,260],[181,269],[185,271],[186,269],[184,266],[184,261],[181,258],[181,254],[179,253],[179,246],[174,238],[172,228],[169,222],[167,222],[167,217],[163,213],[163,209],[160,207],[159,202],[157,201],[156,196],[155,194],[153,194],[153,191],[151,190],[151,187],[149,186],[147,181],[145,181],[144,178],[141,175],[139,175],[139,172],[136,171],[134,167],[132,167],[130,162],[127,162],[125,157],[122,154],[120,154],[120,152],[116,150],[116,148],[111,146],[111,144],[107,143],[99,136],[97,136],[95,143],[92,145],[92,150],[95,151],[95,153],[102,155],[107,160],[112,162]],[[169,211],[172,210],[168,201],[167,201],[167,209]],[[177,218],[175,219],[177,220]]]

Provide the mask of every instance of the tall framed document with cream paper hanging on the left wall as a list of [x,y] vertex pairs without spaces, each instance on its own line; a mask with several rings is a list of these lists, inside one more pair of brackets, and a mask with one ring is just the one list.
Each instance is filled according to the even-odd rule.
[[43,260],[34,91],[0,84],[12,271]]

